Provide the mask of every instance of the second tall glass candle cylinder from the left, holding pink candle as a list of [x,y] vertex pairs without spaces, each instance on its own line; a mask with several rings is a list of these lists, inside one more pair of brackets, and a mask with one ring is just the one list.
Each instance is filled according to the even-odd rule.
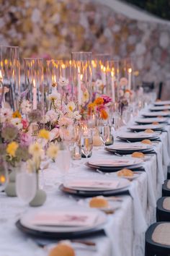
[[31,109],[40,109],[44,114],[44,85],[43,85],[43,59],[24,59],[24,92],[22,100],[31,104]]

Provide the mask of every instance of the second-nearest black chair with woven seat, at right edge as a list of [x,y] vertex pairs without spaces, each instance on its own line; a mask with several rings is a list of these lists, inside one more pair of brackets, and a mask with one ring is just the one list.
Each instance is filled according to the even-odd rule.
[[170,197],[161,197],[156,203],[156,221],[170,221]]

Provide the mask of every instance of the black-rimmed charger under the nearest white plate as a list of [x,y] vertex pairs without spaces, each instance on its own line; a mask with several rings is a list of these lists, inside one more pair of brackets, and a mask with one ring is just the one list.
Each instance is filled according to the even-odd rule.
[[[68,213],[71,213],[69,207],[67,208],[67,211]],[[89,226],[36,226],[35,224],[32,224],[29,219],[27,220],[27,216],[25,220],[23,220],[23,217],[20,218],[19,221],[17,221],[16,226],[25,234],[46,239],[73,239],[102,233],[103,225],[107,222],[107,216],[99,210],[84,208],[84,213],[88,212],[97,213],[95,222]]]

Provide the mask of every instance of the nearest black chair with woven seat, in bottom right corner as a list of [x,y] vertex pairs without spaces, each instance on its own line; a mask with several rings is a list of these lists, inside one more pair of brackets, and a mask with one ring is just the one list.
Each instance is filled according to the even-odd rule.
[[153,223],[146,231],[146,256],[170,256],[170,223]]

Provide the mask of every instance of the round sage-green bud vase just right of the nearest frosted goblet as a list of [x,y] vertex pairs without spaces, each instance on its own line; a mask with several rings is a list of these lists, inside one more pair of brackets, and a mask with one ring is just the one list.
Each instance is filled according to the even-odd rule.
[[39,187],[39,172],[37,171],[37,192],[35,194],[35,197],[30,202],[30,206],[36,207],[41,206],[45,203],[46,200],[46,193],[44,190],[40,189]]

